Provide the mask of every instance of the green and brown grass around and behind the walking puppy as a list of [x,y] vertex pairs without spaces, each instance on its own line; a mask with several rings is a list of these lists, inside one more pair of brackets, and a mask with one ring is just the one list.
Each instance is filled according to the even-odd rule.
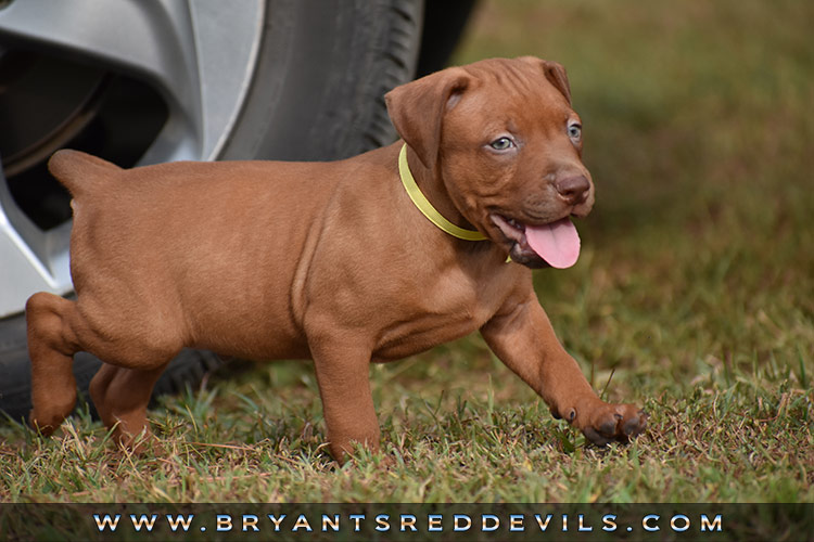
[[[213,377],[132,456],[0,427],[0,501],[814,501],[814,3],[483,2],[459,63],[563,63],[595,211],[540,271],[565,347],[651,414],[585,446],[478,336],[371,367],[383,451],[336,466],[307,363]],[[610,383],[608,383],[611,377]]]

